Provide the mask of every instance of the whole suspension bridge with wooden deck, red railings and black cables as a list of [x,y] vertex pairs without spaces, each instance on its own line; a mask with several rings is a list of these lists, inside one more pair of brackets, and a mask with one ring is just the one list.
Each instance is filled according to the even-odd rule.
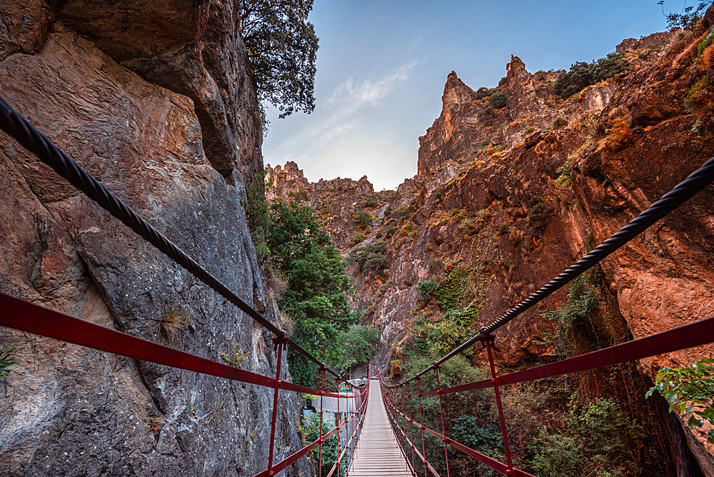
[[[481,328],[478,333],[457,346],[446,356],[435,361],[431,366],[420,373],[408,378],[401,383],[388,385],[381,381],[381,376],[377,368],[376,373],[372,367],[369,368],[369,379],[366,386],[356,388],[351,386],[353,391],[341,393],[340,383],[347,381],[335,371],[327,368],[311,353],[304,350],[298,343],[295,343],[273,323],[255,311],[248,303],[239,298],[228,287],[218,281],[211,273],[201,267],[193,258],[189,257],[166,236],[154,229],[147,221],[141,218],[121,199],[115,196],[109,189],[94,179],[89,173],[81,168],[75,161],[70,159],[63,151],[51,143],[43,134],[34,129],[26,119],[17,114],[9,104],[0,98],[0,129],[12,136],[26,149],[35,154],[41,161],[49,165],[57,174],[64,177],[96,201],[100,206],[109,211],[122,223],[152,243],[166,256],[203,281],[206,286],[212,288],[216,293],[233,303],[244,313],[251,316],[256,323],[273,333],[273,346],[277,354],[275,377],[262,376],[239,368],[228,366],[223,363],[211,361],[206,358],[178,351],[174,348],[162,346],[158,343],[146,341],[136,336],[130,336],[120,331],[89,323],[87,321],[74,318],[64,313],[52,311],[49,308],[38,306],[34,303],[21,300],[14,296],[0,293],[0,324],[9,326],[21,331],[49,336],[69,343],[76,343],[81,346],[96,348],[109,353],[116,353],[122,356],[129,356],[166,366],[173,366],[197,373],[205,373],[211,376],[218,376],[232,381],[251,383],[254,386],[265,386],[273,389],[273,408],[271,415],[271,437],[268,461],[266,467],[255,474],[255,477],[269,477],[281,473],[291,466],[299,458],[306,458],[309,453],[316,451],[316,468],[318,475],[323,476],[322,458],[323,443],[336,434],[338,458],[331,469],[326,473],[326,477],[335,476],[429,476],[441,477],[444,475],[434,468],[426,457],[425,436],[429,434],[443,443],[443,453],[446,461],[446,477],[451,476],[449,455],[453,451],[476,459],[507,476],[531,476],[526,471],[522,471],[513,466],[511,449],[508,444],[508,428],[503,413],[501,403],[501,387],[514,383],[535,381],[551,376],[561,376],[563,374],[587,371],[601,368],[627,361],[635,361],[648,356],[655,356],[684,348],[700,346],[714,342],[714,317],[705,318],[685,326],[673,328],[662,333],[653,334],[637,340],[628,341],[609,348],[586,353],[563,361],[538,366],[535,368],[516,371],[505,375],[498,375],[496,364],[493,360],[493,343],[496,339],[494,332],[509,321],[521,315],[524,311],[533,307],[547,296],[565,284],[572,281],[580,274],[588,271],[599,263],[603,258],[617,250],[625,243],[633,239],[659,219],[673,211],[692,196],[702,191],[714,181],[714,158],[705,162],[699,169],[684,179],[678,186],[665,194],[661,199],[652,204],[648,209],[635,217],[629,224],[620,231],[613,234],[609,239],[593,249],[585,257],[573,263],[567,270],[553,278],[538,291],[533,293],[526,300],[519,303],[511,310],[507,311],[496,321]],[[291,346],[294,351],[318,365],[320,373],[320,389],[298,386],[280,380],[282,353],[287,346]],[[482,381],[462,384],[451,388],[441,388],[440,369],[443,363],[466,351],[471,346],[482,346],[486,349],[491,378]],[[421,389],[421,379],[426,373],[436,374],[436,389],[423,392]],[[330,374],[336,381],[337,393],[325,391],[325,377]],[[416,388],[416,389],[415,389]],[[454,441],[447,436],[446,424],[443,413],[443,396],[453,393],[463,393],[477,389],[493,388],[498,409],[498,425],[501,428],[501,438],[503,450],[505,451],[505,462],[484,455],[478,451],[465,446],[463,443]],[[323,413],[320,413],[320,432],[316,441],[308,443],[301,450],[296,451],[291,456],[283,458],[282,461],[273,462],[275,448],[276,416],[278,406],[278,393],[281,391],[296,391],[299,393],[311,393],[321,399],[328,396],[337,398],[338,409],[341,401],[345,402],[346,412],[343,421],[331,431],[323,433]],[[416,393],[414,392],[416,391]],[[438,398],[439,412],[441,413],[441,430],[424,426],[422,398]],[[348,406],[348,400],[351,400]],[[341,413],[338,412],[338,416]],[[341,440],[341,430],[351,429],[345,441]],[[415,437],[416,433],[416,437]],[[421,441],[421,442],[420,442]],[[420,445],[421,444],[421,445]],[[341,467],[342,466],[342,470]],[[256,463],[256,468],[261,468]]]

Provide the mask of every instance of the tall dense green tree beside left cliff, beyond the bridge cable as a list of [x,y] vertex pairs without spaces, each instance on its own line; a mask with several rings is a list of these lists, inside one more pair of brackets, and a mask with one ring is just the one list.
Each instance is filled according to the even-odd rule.
[[[345,263],[311,207],[278,201],[271,216],[268,248],[289,283],[278,306],[296,324],[293,339],[324,361],[335,361],[339,332],[356,323],[347,302],[351,278]],[[295,381],[313,386],[316,366],[299,355],[290,358]]]

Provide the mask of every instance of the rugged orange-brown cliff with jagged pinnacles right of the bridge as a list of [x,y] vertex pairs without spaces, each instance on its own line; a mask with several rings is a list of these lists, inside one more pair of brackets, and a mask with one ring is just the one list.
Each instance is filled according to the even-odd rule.
[[[560,72],[531,74],[516,56],[506,66],[506,78],[486,94],[470,89],[456,73],[448,75],[441,116],[420,138],[418,176],[379,197],[381,214],[365,242],[353,242],[388,244],[386,269],[351,268],[357,305],[381,332],[376,361],[383,369],[398,377],[399,361],[408,359],[414,343],[415,323],[443,319],[434,298],[421,298],[418,283],[463,271],[458,305],[473,307],[476,333],[714,155],[710,106],[683,102],[698,81],[714,74],[714,48],[698,53],[712,19],[705,17],[698,34],[675,31],[623,41],[618,51],[630,71],[566,99],[554,92]],[[493,101],[503,94],[503,104]],[[268,177],[275,196],[300,189],[316,208],[325,204],[295,164],[269,169]],[[348,193],[341,204],[359,204],[359,198]],[[714,315],[712,204],[710,186],[602,263],[596,271],[601,304],[593,326],[598,329],[574,343],[573,351]],[[324,216],[332,224],[336,212]],[[331,234],[347,255],[346,237],[355,229],[336,226]],[[562,306],[566,293],[559,291],[498,331],[501,368],[557,358],[554,344],[543,339],[555,333],[543,313]],[[713,351],[703,346],[656,356],[623,371],[629,384],[618,392],[629,393],[623,400],[631,400],[633,408],[645,409],[645,426],[666,436],[663,449],[672,456],[667,464],[672,474],[714,475],[705,435],[690,431],[661,401],[645,402],[642,396],[660,366],[688,366]],[[477,364],[485,359],[478,347],[470,357]],[[600,382],[579,379],[584,388]]]

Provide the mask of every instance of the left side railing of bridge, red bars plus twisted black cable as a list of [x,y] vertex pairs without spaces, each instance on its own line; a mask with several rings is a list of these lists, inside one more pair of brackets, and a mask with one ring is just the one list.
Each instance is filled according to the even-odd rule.
[[[341,399],[345,399],[346,402],[347,400],[356,400],[357,403],[361,403],[358,404],[358,408],[361,409],[361,412],[363,413],[364,403],[366,403],[367,400],[365,395],[366,389],[358,393],[357,396],[353,396],[352,394],[340,396],[339,391],[337,394],[323,392],[325,372],[331,373],[335,376],[336,382],[338,383],[338,390],[339,383],[341,381],[347,383],[347,381],[345,381],[338,373],[328,369],[325,366],[325,363],[321,363],[318,358],[312,356],[298,343],[288,338],[283,330],[279,329],[274,323],[249,306],[248,303],[243,301],[243,299],[236,295],[236,293],[233,293],[233,291],[221,283],[221,281],[218,281],[216,277],[203,268],[197,261],[188,256],[181,250],[181,248],[178,248],[178,246],[164,236],[164,234],[161,234],[161,232],[151,226],[149,222],[139,216],[139,214],[136,214],[136,212],[124,204],[119,197],[107,189],[104,184],[101,184],[101,182],[97,181],[94,176],[91,176],[91,174],[82,169],[79,164],[76,164],[74,160],[64,154],[64,151],[61,151],[61,149],[49,141],[44,134],[37,131],[31,124],[29,124],[29,121],[17,114],[16,111],[14,111],[2,98],[0,98],[0,129],[14,137],[16,141],[22,144],[30,152],[34,153],[45,164],[54,169],[57,174],[64,177],[64,179],[69,181],[80,191],[83,191],[84,194],[89,196],[90,199],[96,201],[97,204],[106,209],[106,211],[109,211],[109,213],[114,215],[130,229],[135,231],[136,234],[139,234],[139,236],[144,238],[146,241],[149,241],[149,243],[156,246],[156,248],[171,258],[172,261],[185,268],[186,271],[192,273],[193,276],[196,276],[196,278],[203,281],[203,283],[210,288],[213,288],[214,291],[226,298],[226,301],[230,301],[241,309],[241,311],[246,313],[248,316],[251,316],[253,321],[260,323],[261,326],[271,331],[271,333],[275,336],[273,338],[273,345],[275,346],[278,358],[276,365],[276,377],[268,378],[256,373],[250,373],[238,368],[233,368],[223,363],[216,363],[206,358],[194,356],[189,353],[183,353],[182,351],[178,351],[167,346],[161,346],[159,344],[152,343],[151,341],[136,338],[135,336],[131,336],[126,333],[104,328],[102,326],[95,325],[94,323],[73,318],[65,315],[64,313],[58,313],[56,311],[49,310],[48,308],[34,305],[33,303],[23,301],[4,293],[0,293],[0,325],[10,326],[19,330],[49,336],[51,338],[68,341],[70,343],[76,343],[81,346],[89,346],[102,351],[109,351],[110,353],[129,356],[131,358],[143,359],[145,361],[186,369],[188,371],[196,371],[197,373],[206,373],[212,376],[231,379],[233,381],[241,381],[244,383],[252,383],[258,386],[273,388],[273,411],[271,416],[271,443],[268,451],[268,468],[266,468],[265,471],[256,474],[256,476],[273,476],[275,473],[278,473],[298,458],[306,456],[306,454],[316,446],[320,446],[318,460],[321,465],[322,443],[326,440],[326,438],[332,436],[335,432],[337,432],[339,436],[340,429],[343,426],[348,425],[348,423],[355,418],[357,413],[353,413],[353,415],[346,418],[344,422],[338,423],[338,426],[335,429],[323,436],[321,412],[320,437],[318,440],[301,449],[301,451],[293,453],[291,456],[283,459],[283,461],[273,465],[278,391],[283,389],[287,391],[317,394],[320,396],[321,403],[323,396],[335,397],[338,399],[338,409]],[[294,351],[300,353],[308,360],[320,366],[321,388],[319,391],[280,380],[282,353],[286,346],[291,346]],[[349,383],[348,385],[355,389],[355,386],[352,386]],[[355,433],[358,429],[359,426],[356,426]],[[353,436],[351,436],[351,438],[352,437]],[[339,444],[339,437],[338,455],[343,455]],[[333,470],[330,472],[330,475],[333,473],[335,468],[338,469],[339,462],[340,460],[338,459],[333,467]]]

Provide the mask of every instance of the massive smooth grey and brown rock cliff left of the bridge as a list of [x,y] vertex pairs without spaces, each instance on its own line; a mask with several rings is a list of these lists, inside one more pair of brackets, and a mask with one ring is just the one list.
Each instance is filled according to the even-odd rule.
[[[263,169],[235,2],[0,2],[0,94],[273,321],[246,225]],[[0,133],[0,290],[271,375],[267,333]],[[251,476],[272,391],[39,336],[0,377],[6,476]],[[283,369],[287,366],[283,363]],[[287,373],[283,376],[289,379]],[[282,393],[276,459],[301,447]],[[303,461],[288,475],[308,475]]]

